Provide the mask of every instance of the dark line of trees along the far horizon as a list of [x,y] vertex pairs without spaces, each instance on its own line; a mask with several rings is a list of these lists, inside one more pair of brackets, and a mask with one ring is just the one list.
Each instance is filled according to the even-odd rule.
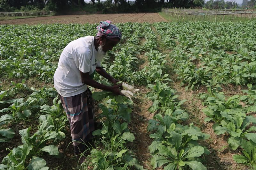
[[[244,5],[253,6],[256,0],[243,0]],[[72,8],[94,9],[103,13],[122,12],[158,12],[163,7],[208,8],[208,9],[232,9],[237,8],[235,0],[0,0],[0,12],[13,11],[56,11],[64,12]]]

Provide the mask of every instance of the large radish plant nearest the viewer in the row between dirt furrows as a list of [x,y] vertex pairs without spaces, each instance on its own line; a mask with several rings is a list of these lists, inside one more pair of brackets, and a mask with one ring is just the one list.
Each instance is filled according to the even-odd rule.
[[[193,124],[183,127],[180,124],[169,123],[169,127],[165,128],[159,124],[157,132],[150,135],[151,138],[155,138],[149,146],[149,151],[153,154],[153,168],[164,165],[164,169],[186,169],[189,166],[191,169],[206,170],[197,157],[203,153],[209,154],[209,151],[197,141],[210,136],[202,133]],[[164,133],[161,135],[162,132]]]

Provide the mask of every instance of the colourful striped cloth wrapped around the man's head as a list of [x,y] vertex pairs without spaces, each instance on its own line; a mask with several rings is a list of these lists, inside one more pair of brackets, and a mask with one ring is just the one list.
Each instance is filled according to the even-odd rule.
[[97,26],[97,36],[105,35],[107,39],[116,41],[116,39],[121,40],[122,33],[119,31],[119,29],[111,24],[110,20],[107,21],[101,21],[100,25]]

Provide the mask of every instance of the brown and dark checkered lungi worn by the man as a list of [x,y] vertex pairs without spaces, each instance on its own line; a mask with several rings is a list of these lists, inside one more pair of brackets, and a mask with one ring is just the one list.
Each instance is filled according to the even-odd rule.
[[92,92],[87,90],[71,97],[62,97],[62,106],[68,116],[75,155],[86,149],[85,144],[92,140],[94,130],[94,100]]

